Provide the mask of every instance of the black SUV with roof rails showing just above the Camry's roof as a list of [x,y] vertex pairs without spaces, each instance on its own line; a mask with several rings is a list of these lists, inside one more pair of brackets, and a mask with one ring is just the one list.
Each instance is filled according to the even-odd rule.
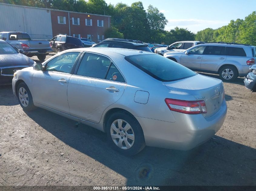
[[130,39],[107,38],[93,47],[127,48],[152,52],[147,44]]

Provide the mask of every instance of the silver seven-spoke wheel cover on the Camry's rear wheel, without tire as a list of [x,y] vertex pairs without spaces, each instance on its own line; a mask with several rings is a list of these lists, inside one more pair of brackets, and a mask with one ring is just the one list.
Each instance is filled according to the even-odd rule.
[[131,125],[123,119],[116,119],[111,124],[110,135],[113,142],[121,149],[129,149],[134,144],[134,131]]

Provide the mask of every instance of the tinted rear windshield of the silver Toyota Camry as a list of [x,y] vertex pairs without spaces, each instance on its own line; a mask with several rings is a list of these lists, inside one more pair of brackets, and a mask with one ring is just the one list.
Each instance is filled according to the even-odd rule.
[[125,59],[159,81],[176,81],[197,75],[185,66],[158,54],[132,55]]

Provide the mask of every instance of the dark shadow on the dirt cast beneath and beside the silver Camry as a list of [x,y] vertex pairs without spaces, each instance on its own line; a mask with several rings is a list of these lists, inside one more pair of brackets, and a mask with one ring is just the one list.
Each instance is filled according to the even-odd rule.
[[[27,113],[70,147],[127,179],[127,185],[256,185],[256,149],[219,136],[191,151],[146,147],[133,157],[109,148],[106,135],[38,108]],[[46,120],[47,119],[47,120]]]

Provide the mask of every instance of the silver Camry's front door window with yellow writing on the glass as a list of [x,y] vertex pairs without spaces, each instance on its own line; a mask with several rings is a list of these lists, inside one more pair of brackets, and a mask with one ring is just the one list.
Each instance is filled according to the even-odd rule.
[[80,52],[63,53],[51,59],[45,65],[45,71],[70,73]]

